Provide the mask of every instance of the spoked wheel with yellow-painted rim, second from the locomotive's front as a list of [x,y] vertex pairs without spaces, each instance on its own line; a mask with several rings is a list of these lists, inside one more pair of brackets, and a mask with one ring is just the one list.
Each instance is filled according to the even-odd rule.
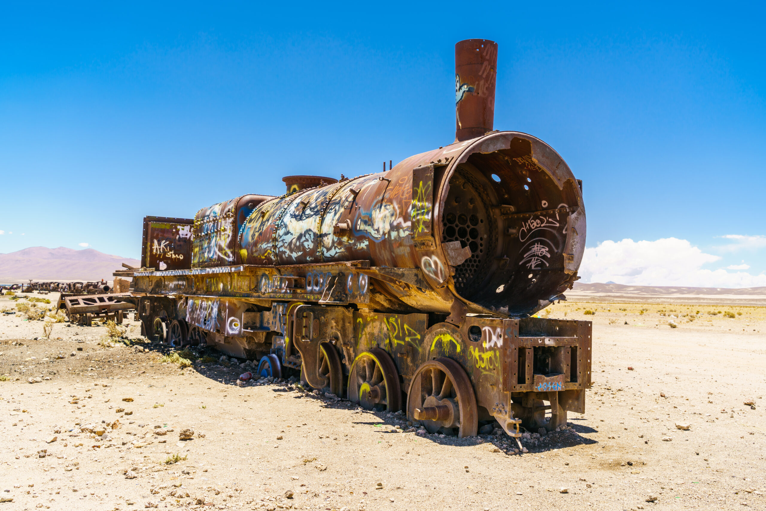
[[349,371],[349,401],[365,410],[401,410],[399,375],[388,353],[373,348],[356,357]]

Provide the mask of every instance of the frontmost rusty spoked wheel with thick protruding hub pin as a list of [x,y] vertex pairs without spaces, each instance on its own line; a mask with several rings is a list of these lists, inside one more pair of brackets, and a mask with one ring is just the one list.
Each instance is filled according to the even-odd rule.
[[442,357],[417,368],[408,393],[407,418],[421,421],[430,433],[444,428],[460,438],[476,436],[476,395],[460,364]]

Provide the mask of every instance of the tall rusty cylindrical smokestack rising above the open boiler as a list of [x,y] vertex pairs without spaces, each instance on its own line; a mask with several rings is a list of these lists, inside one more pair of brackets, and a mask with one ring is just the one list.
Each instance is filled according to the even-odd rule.
[[455,44],[455,142],[492,131],[496,69],[495,41],[466,39]]

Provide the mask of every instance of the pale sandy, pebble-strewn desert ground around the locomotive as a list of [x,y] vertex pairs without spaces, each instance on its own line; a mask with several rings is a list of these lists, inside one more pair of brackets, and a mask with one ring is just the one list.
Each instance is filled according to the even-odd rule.
[[293,382],[237,385],[250,365],[218,352],[184,368],[135,321],[127,342],[66,322],[45,338],[49,305],[23,303],[0,296],[0,511],[766,509],[764,307],[548,307],[593,321],[593,388],[517,454]]

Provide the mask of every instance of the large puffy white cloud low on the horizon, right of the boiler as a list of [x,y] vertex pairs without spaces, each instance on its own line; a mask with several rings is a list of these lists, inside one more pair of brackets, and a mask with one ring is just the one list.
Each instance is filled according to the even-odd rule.
[[597,247],[585,249],[578,274],[582,282],[612,280],[634,286],[766,286],[766,274],[751,275],[742,271],[730,273],[724,269],[702,268],[720,259],[676,237],[657,241],[604,241]]

